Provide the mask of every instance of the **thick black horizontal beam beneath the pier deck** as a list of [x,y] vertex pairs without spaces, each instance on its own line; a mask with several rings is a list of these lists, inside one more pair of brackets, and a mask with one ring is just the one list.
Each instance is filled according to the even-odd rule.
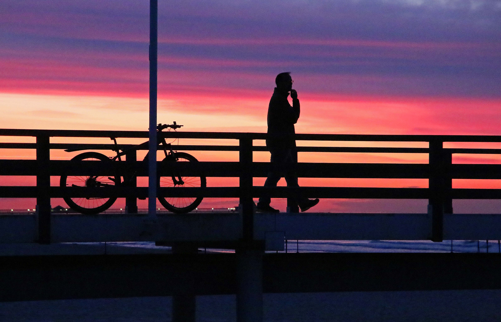
[[[306,264],[307,263],[307,264]],[[499,254],[265,254],[266,293],[501,289]],[[0,257],[2,301],[234,294],[235,254]]]

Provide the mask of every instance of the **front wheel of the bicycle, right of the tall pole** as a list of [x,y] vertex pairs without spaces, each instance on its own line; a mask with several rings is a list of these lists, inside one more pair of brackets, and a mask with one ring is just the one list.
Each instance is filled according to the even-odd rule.
[[[170,157],[169,157],[170,158]],[[158,186],[159,187],[206,187],[207,179],[204,176],[200,177],[188,177],[183,176],[182,173],[179,173],[176,170],[175,163],[176,162],[198,162],[198,160],[192,156],[191,154],[184,152],[175,152],[174,153],[175,162],[169,162],[168,158],[165,158],[163,161],[166,166],[169,168],[169,171],[172,171],[171,176],[159,177],[158,178]],[[181,179],[182,184],[179,184],[178,179]],[[158,197],[158,201],[165,207],[165,209],[174,212],[174,213],[187,213],[194,210],[203,197]]]

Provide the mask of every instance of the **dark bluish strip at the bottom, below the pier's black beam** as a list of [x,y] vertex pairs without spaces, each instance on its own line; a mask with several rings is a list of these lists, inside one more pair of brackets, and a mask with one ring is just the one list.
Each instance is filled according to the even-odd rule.
[[[501,290],[264,294],[267,322],[494,322]],[[236,321],[234,295],[197,296],[196,321]],[[172,298],[0,302],[3,322],[168,322]]]

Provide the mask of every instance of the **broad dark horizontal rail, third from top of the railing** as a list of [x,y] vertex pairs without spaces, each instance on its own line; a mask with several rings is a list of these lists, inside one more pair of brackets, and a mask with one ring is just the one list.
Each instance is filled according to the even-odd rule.
[[[0,160],[0,175],[36,176],[40,173],[37,160]],[[167,175],[168,170],[158,161],[159,175]],[[187,176],[239,177],[242,171],[253,177],[266,177],[269,162],[253,162],[252,166],[242,168],[239,162],[209,162],[181,164],[178,169]],[[284,166],[286,170],[288,167]],[[299,162],[294,167],[303,178],[381,178],[381,179],[429,179],[433,169],[429,164],[419,163],[318,163]],[[50,160],[45,169],[50,176],[60,175],[99,175],[106,176],[115,172],[137,171],[138,176],[148,176],[147,165],[143,161],[114,161],[103,164],[100,161]],[[447,174],[454,179],[501,179],[501,164],[452,164]]]

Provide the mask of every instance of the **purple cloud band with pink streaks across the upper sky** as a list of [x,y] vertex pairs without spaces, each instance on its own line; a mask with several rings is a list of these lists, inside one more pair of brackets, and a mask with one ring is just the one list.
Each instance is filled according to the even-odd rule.
[[[3,65],[35,61],[53,71],[11,68],[4,80],[147,81],[147,1],[7,1],[4,7]],[[499,1],[171,0],[159,8],[165,88],[180,85],[169,75],[202,73],[208,87],[263,90],[270,84],[256,79],[290,70],[313,93],[500,96]],[[61,66],[78,73],[63,75]],[[228,79],[218,80],[221,74]],[[189,78],[181,83],[200,86]]]

